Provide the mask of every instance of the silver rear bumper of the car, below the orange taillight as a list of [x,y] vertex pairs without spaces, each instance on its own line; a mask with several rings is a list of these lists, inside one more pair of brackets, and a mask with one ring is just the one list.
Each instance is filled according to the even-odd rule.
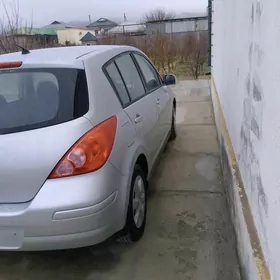
[[110,163],[47,180],[28,203],[0,205],[0,250],[58,250],[100,243],[124,224],[127,179]]

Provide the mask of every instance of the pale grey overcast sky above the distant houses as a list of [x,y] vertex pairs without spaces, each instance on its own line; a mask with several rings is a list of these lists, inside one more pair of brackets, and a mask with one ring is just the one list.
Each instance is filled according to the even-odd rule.
[[33,17],[34,25],[48,24],[54,20],[92,20],[100,17],[137,20],[143,13],[154,8],[164,8],[176,13],[205,12],[207,0],[0,0],[0,15],[3,16],[4,2],[7,8],[18,1],[20,15],[24,20]]

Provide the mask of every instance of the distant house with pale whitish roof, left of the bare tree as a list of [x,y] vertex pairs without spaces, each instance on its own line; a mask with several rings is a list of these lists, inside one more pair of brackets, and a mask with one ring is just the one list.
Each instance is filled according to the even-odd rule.
[[119,24],[118,26],[110,29],[108,31],[108,34],[124,34],[129,36],[140,36],[145,35],[146,33],[146,25],[145,24],[139,24],[136,22],[123,22]]

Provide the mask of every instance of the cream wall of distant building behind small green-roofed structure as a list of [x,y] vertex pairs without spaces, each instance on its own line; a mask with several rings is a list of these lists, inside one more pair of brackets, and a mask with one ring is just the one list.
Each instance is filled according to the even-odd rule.
[[[89,32],[87,29],[67,28],[57,31],[58,42],[66,45],[66,41],[70,44],[82,45],[81,39]],[[92,33],[94,35],[94,32]]]

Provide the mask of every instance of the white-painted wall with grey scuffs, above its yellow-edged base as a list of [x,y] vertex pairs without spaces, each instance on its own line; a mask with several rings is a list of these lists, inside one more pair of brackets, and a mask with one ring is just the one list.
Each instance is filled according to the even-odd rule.
[[271,278],[280,279],[280,1],[213,1],[213,79]]

